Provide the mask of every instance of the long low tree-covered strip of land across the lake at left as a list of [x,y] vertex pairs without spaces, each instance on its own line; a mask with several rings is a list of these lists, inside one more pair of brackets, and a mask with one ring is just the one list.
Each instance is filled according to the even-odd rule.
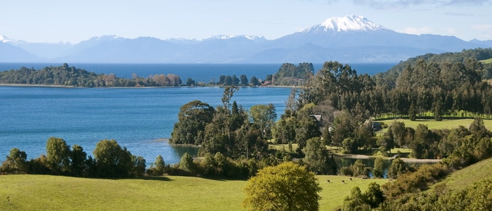
[[0,84],[54,85],[68,87],[168,87],[181,85],[178,75],[150,75],[131,79],[116,77],[115,74],[96,74],[70,67],[67,63],[41,70],[22,67],[20,70],[0,72]]

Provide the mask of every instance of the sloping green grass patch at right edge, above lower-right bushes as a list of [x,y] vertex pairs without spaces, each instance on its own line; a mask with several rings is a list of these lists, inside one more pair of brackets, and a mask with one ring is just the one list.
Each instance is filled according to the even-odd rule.
[[[492,158],[482,160],[462,170],[453,172],[438,184],[446,184],[451,190],[466,188],[482,179],[492,179]],[[437,185],[437,184],[436,184]]]

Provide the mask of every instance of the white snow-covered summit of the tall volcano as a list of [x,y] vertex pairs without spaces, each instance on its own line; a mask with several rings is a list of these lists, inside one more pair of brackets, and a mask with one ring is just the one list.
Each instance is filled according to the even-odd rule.
[[328,18],[323,23],[319,25],[314,25],[313,27],[303,30],[302,32],[311,32],[313,30],[323,30],[335,31],[335,32],[351,32],[351,31],[377,31],[377,30],[388,30],[382,25],[375,24],[364,18],[361,15],[347,15],[343,18],[335,17]]

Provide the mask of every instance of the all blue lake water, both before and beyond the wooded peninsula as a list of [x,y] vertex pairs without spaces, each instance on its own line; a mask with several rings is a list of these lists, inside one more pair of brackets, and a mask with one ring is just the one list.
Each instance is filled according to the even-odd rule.
[[[40,69],[47,63],[0,63],[0,70],[22,66]],[[183,81],[209,82],[220,75],[247,75],[264,78],[274,74],[280,64],[69,64],[96,73],[115,73],[119,77],[150,74],[175,74]],[[374,75],[394,64],[354,64],[359,73]],[[315,65],[315,70],[321,64]],[[211,106],[221,105],[224,89],[219,87],[167,87],[145,89],[0,87],[0,162],[11,148],[20,148],[28,159],[46,153],[50,136],[78,144],[89,155],[102,139],[116,139],[134,155],[148,163],[162,155],[167,163],[179,162],[184,152],[196,154],[198,148],[169,146],[179,108],[200,100]],[[290,88],[245,87],[233,101],[249,109],[273,103],[278,116],[283,114]]]

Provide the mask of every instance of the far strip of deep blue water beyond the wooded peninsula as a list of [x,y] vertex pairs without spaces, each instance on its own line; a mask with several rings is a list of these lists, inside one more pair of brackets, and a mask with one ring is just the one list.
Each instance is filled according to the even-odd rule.
[[[59,66],[60,63],[0,63],[0,71],[18,70],[22,66],[39,70],[47,66]],[[255,76],[265,79],[266,75],[273,75],[282,64],[93,64],[70,63],[70,66],[82,68],[91,72],[110,74],[117,77],[131,78],[133,73],[140,77],[169,73],[179,75],[183,82],[186,79],[194,79],[195,82],[218,82],[221,75],[246,75],[248,79]],[[375,75],[377,72],[385,72],[392,68],[394,63],[354,63],[349,64],[358,74]],[[323,64],[313,64],[317,71]]]

